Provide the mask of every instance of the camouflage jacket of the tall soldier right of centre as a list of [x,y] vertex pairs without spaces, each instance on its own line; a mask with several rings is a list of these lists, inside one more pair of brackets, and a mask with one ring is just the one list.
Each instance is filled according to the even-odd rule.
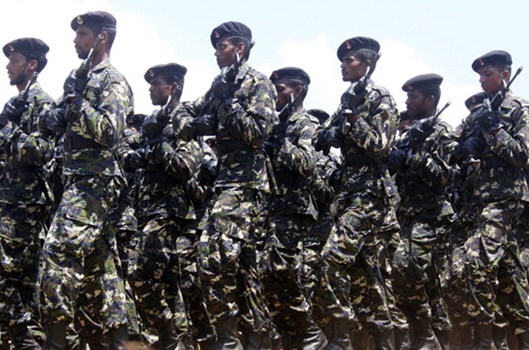
[[389,175],[385,159],[391,152],[399,122],[394,98],[381,86],[369,82],[366,86],[364,110],[350,125],[340,105],[324,125],[314,133],[314,143],[319,143],[319,133],[338,126],[344,136],[340,147],[344,157],[338,192],[341,196],[368,192],[381,197],[396,194],[394,181]]

